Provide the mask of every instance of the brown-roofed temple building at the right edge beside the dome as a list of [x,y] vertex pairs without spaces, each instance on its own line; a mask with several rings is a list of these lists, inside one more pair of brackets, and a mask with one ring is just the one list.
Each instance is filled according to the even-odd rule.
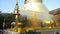
[[56,24],[56,27],[59,27],[60,26],[60,8],[54,9],[50,11],[49,13],[53,15],[52,18]]

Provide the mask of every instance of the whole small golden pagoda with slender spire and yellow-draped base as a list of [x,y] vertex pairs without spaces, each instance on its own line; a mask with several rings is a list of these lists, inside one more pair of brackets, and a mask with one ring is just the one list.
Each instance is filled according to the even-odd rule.
[[[16,6],[15,6],[15,9],[14,9],[14,22],[11,23],[11,30],[14,31],[14,32],[18,32],[20,33],[21,32],[21,25],[22,23],[19,22],[19,16],[20,16],[20,13],[19,13],[19,6],[18,6],[18,0],[16,2]],[[13,27],[12,27],[13,26]]]

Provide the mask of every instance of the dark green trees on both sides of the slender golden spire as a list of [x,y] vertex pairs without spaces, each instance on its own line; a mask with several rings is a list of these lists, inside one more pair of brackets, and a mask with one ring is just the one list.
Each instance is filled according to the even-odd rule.
[[[1,28],[3,28],[3,22],[5,19],[5,26],[4,28],[11,28],[11,23],[14,22],[14,14],[1,14],[0,15],[0,24],[1,24]],[[26,16],[19,16],[19,22],[21,22],[23,25],[21,25],[22,28],[26,27],[26,23],[27,23],[27,17]]]

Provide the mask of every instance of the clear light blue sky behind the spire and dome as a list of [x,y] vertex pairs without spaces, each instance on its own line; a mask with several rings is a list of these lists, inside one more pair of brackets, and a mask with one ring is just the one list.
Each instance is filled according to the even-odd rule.
[[[18,0],[19,9],[21,10],[24,5],[24,0]],[[60,8],[60,0],[43,0],[43,4],[49,11]],[[2,13],[13,13],[16,5],[16,0],[0,0],[0,11]]]

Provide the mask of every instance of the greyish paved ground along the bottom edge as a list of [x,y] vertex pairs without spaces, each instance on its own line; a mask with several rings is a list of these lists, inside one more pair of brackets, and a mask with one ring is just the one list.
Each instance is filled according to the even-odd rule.
[[[36,32],[41,32],[41,34],[56,34],[57,32],[60,34],[60,30],[37,30]],[[12,33],[12,31],[5,30],[4,34]],[[17,32],[13,32],[16,34]],[[0,34],[3,34],[3,31],[0,31]]]

